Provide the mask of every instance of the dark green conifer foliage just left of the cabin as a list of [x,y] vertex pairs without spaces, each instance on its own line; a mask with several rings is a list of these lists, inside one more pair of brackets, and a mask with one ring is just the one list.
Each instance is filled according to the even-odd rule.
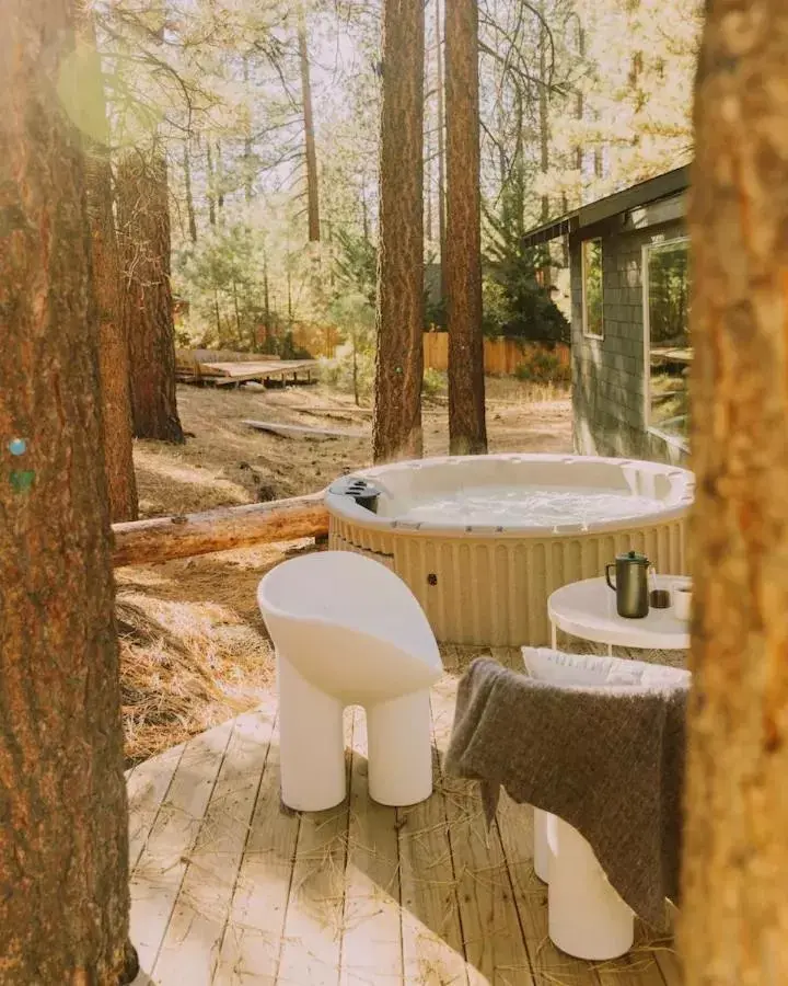
[[484,328],[488,335],[533,342],[569,342],[569,323],[551,300],[536,272],[548,257],[522,244],[522,223],[503,207],[486,214],[488,241],[484,257]]

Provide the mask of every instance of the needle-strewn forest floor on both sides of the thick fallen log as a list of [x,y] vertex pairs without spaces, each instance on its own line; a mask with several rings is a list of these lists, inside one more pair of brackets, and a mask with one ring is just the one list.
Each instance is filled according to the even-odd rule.
[[[186,444],[138,442],[140,516],[296,496],[370,463],[371,415],[325,385],[285,390],[181,386]],[[244,419],[363,432],[279,437]],[[424,406],[425,454],[449,448],[445,395]],[[566,391],[487,380],[490,451],[571,451]],[[129,764],[253,708],[273,685],[270,643],[256,604],[262,575],[311,541],[264,544],[119,569],[117,614]]]

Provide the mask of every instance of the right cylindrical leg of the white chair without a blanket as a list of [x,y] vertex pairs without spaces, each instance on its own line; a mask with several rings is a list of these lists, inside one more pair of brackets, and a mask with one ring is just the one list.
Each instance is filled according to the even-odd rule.
[[429,692],[367,709],[369,793],[380,804],[406,805],[432,793]]

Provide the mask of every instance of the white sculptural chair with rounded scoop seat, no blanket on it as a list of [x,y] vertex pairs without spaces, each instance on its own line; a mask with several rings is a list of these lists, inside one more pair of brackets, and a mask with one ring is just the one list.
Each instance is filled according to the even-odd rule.
[[407,585],[369,558],[324,551],[277,565],[257,601],[277,654],[285,804],[321,811],[344,800],[343,712],[355,704],[367,711],[370,796],[429,798],[429,687],[443,667]]

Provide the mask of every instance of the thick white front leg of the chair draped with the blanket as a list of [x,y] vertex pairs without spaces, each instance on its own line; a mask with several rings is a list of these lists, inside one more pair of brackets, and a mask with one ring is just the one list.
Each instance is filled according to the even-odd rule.
[[635,939],[635,919],[607,881],[580,833],[547,815],[549,887],[547,933],[567,955],[603,962],[624,955]]

